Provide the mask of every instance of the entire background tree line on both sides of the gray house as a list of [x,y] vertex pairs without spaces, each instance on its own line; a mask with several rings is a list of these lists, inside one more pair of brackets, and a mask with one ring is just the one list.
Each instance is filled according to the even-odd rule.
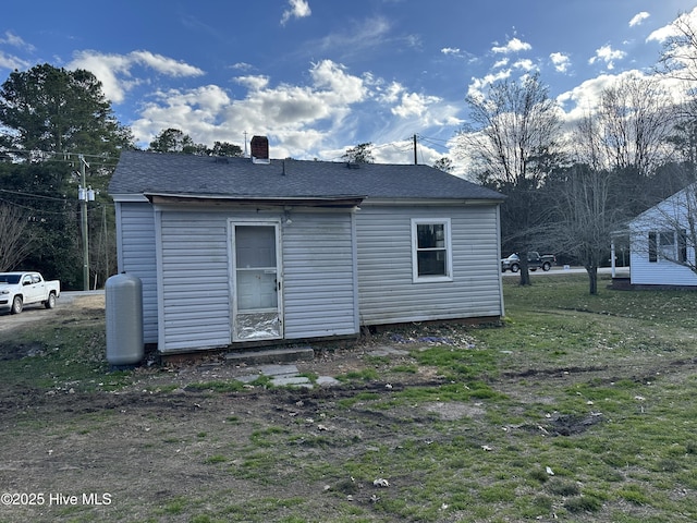
[[[539,74],[496,82],[465,99],[469,120],[455,154],[470,177],[506,196],[502,251],[522,254],[522,284],[529,283],[523,254],[542,251],[582,264],[597,292],[610,239],[621,238],[627,219],[695,181],[697,28],[681,16],[673,29],[652,74],[619,76],[573,123]],[[668,82],[684,83],[683,99]],[[372,162],[371,147],[359,144],[344,159]],[[102,285],[117,269],[106,190],[120,151],[133,148],[132,131],[93,73],[50,64],[12,72],[0,86],[0,270],[26,267],[68,289],[84,287],[76,195],[88,165],[86,185],[96,194],[88,206],[89,287]],[[178,129],[162,130],[147,150],[242,156],[237,145],[208,147]],[[433,167],[450,171],[452,161]],[[697,226],[688,243],[697,250]]]

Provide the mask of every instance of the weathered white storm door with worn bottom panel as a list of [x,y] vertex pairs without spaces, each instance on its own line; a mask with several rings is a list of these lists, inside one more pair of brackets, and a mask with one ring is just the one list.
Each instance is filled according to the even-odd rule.
[[278,224],[232,226],[233,340],[283,337]]

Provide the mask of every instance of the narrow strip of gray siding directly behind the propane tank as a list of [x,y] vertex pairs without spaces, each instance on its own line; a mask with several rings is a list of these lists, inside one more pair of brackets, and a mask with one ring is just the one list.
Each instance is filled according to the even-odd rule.
[[143,283],[143,341],[157,343],[157,256],[155,212],[149,203],[117,203],[119,272]]

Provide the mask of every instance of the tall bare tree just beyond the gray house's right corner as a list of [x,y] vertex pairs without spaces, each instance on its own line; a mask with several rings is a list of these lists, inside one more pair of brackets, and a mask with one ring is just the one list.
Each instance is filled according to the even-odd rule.
[[457,156],[474,166],[480,181],[509,196],[501,210],[503,242],[517,246],[521,284],[529,284],[535,192],[559,150],[560,109],[539,75],[493,84],[466,101],[470,123],[457,134]]

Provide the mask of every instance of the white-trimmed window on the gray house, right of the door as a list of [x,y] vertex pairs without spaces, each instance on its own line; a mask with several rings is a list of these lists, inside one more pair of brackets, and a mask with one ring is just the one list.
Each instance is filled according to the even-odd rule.
[[452,281],[450,219],[412,219],[414,282]]

